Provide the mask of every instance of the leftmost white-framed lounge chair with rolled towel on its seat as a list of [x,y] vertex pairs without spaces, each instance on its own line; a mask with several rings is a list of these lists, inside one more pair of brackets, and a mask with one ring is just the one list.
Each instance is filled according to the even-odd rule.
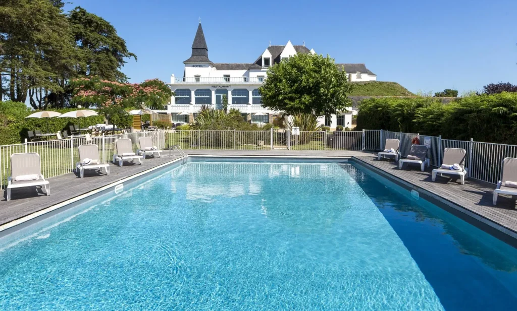
[[41,160],[37,153],[13,153],[11,155],[11,176],[7,177],[7,201],[11,200],[11,189],[43,186],[50,195],[50,185],[41,174]]

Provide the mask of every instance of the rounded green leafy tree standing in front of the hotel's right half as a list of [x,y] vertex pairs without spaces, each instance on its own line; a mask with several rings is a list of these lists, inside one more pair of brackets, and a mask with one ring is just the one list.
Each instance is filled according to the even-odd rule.
[[286,114],[330,116],[351,106],[352,85],[329,56],[296,54],[275,64],[258,90],[262,106]]

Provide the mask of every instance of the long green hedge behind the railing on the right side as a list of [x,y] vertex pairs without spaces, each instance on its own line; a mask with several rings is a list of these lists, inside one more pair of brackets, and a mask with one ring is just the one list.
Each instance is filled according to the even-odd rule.
[[357,129],[386,129],[446,139],[517,144],[517,93],[460,97],[372,98],[359,104]]

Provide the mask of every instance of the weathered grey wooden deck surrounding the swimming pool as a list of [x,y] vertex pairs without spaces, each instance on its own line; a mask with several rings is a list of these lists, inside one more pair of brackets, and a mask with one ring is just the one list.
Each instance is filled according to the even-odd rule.
[[[1,190],[0,225],[30,215],[39,210],[58,203],[65,202],[80,194],[99,189],[121,179],[144,172],[153,167],[179,158],[169,156],[164,152],[162,158],[151,158],[140,165],[125,164],[124,167],[111,166],[110,176],[99,176],[97,173],[85,173],[83,179],[74,173],[48,178],[51,185],[51,195],[45,196],[41,190],[31,188],[13,189],[11,201],[6,201],[5,191]],[[457,205],[466,211],[488,220],[497,230],[517,236],[517,209],[515,199],[507,195],[499,195],[497,206],[492,205],[492,191],[495,185],[466,179],[465,185],[438,176],[436,182],[431,181],[431,169],[421,172],[419,167],[409,167],[399,170],[394,161],[377,161],[372,153],[358,151],[289,151],[289,150],[186,150],[190,156],[254,156],[254,157],[347,157],[359,162],[377,173],[395,179],[399,184],[415,188],[434,195],[440,200]],[[500,226],[500,227],[497,227]]]

